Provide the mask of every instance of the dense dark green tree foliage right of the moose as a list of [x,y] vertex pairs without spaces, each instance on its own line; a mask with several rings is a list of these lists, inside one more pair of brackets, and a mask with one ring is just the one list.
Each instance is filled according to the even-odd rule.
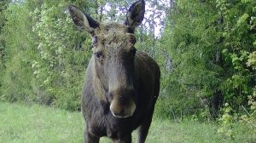
[[[217,117],[219,106],[247,106],[255,86],[255,1],[177,1],[170,9],[160,49],[164,99],[172,112]],[[170,108],[169,108],[170,109]],[[169,112],[170,114],[170,112]]]

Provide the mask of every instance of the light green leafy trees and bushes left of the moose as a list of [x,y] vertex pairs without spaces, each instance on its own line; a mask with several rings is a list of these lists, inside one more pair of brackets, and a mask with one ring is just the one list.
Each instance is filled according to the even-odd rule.
[[73,26],[68,4],[25,1],[9,5],[3,28],[8,49],[1,100],[80,108],[90,37]]

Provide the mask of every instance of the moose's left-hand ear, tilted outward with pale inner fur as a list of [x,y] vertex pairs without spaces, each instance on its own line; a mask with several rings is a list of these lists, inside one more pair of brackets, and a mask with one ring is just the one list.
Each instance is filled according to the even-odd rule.
[[100,26],[99,22],[93,20],[89,14],[84,14],[84,12],[76,6],[69,5],[68,9],[73,23],[80,29],[93,34],[94,30]]

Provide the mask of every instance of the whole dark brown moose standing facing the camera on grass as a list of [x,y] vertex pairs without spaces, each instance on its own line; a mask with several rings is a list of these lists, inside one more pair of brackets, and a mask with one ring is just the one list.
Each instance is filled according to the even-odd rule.
[[114,143],[143,143],[160,91],[160,68],[135,48],[135,28],[144,18],[145,2],[131,4],[123,24],[100,23],[76,6],[68,6],[73,22],[92,37],[90,62],[82,91],[84,142],[108,136]]

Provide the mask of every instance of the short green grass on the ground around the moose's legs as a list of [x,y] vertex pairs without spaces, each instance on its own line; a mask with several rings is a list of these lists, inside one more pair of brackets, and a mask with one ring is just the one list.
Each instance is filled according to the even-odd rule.
[[[242,126],[234,129],[235,139],[217,134],[214,123],[160,120],[154,122],[148,133],[149,143],[222,143],[252,142]],[[20,105],[0,102],[0,142],[2,143],[81,143],[84,120],[80,112],[67,112],[47,106]],[[136,142],[133,134],[133,142]],[[101,142],[110,140],[103,138]]]

